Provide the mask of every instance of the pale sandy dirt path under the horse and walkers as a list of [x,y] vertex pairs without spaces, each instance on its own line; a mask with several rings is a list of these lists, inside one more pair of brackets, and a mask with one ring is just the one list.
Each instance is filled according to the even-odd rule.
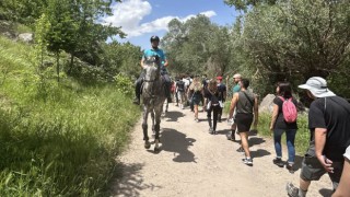
[[[219,123],[218,135],[208,134],[206,113],[199,123],[188,109],[170,104],[161,123],[161,152],[143,148],[141,119],[132,131],[128,151],[118,160],[122,178],[116,179],[114,196],[288,196],[285,183],[299,183],[300,169],[290,174],[272,164],[275,149],[271,139],[249,137],[254,166],[243,164],[238,143],[226,140],[229,126]],[[151,131],[150,131],[151,134]],[[287,158],[283,147],[283,160]],[[302,158],[296,157],[300,167]],[[329,196],[328,176],[313,182],[307,196]]]

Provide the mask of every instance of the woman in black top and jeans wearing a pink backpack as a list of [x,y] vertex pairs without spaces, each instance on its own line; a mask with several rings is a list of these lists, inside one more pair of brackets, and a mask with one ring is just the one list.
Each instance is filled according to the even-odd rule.
[[287,169],[293,173],[293,164],[295,159],[294,140],[298,130],[296,125],[296,100],[292,96],[292,89],[289,82],[280,82],[276,89],[277,96],[273,100],[273,111],[271,116],[270,130],[273,132],[273,142],[276,150],[276,159],[273,164],[283,167],[281,137],[285,131],[288,147]]

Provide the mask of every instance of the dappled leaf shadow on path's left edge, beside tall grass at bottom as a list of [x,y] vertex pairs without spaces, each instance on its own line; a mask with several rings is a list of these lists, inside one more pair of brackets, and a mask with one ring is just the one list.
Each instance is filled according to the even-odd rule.
[[142,167],[141,163],[118,163],[110,193],[114,196],[140,196],[140,190],[160,188],[161,186],[144,184],[143,177],[140,175]]

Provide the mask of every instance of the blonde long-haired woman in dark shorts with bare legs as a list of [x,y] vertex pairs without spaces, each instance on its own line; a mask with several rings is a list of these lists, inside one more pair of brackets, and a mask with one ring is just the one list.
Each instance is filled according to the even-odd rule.
[[201,101],[202,97],[202,90],[203,90],[203,85],[201,84],[199,78],[196,76],[194,79],[194,82],[190,83],[189,88],[188,88],[188,92],[187,94],[190,95],[191,94],[191,102],[194,104],[194,111],[195,111],[195,121],[199,123],[198,119],[198,105]]

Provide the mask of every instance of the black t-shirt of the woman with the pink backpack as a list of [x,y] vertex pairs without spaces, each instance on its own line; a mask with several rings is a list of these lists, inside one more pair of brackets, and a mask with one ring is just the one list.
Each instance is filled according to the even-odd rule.
[[[287,100],[287,99],[284,99]],[[296,106],[298,102],[293,97],[292,102],[294,103],[294,105]],[[298,129],[298,124],[295,123],[287,123],[284,120],[283,117],[283,112],[282,112],[282,106],[283,106],[283,101],[276,96],[273,100],[273,104],[276,104],[278,106],[278,116],[276,119],[276,124],[275,124],[275,129]]]

